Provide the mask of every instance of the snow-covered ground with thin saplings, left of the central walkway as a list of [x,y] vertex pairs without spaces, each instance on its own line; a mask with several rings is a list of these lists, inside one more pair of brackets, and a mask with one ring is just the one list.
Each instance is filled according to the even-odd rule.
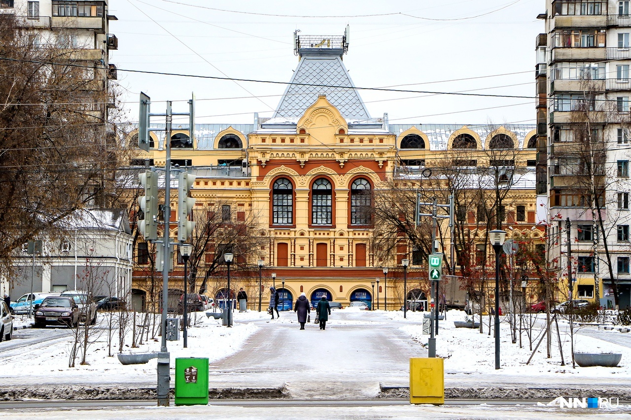
[[[201,357],[210,361],[225,358],[236,353],[244,341],[259,329],[248,320],[259,319],[256,315],[244,317],[244,322],[237,322],[232,328],[221,326],[221,321],[206,318],[203,313],[197,314],[198,323],[188,329],[188,347],[184,349],[180,332],[179,341],[168,341],[167,347],[175,366],[175,358]],[[245,314],[243,314],[245,315]],[[76,359],[74,368],[68,367],[69,354],[72,346],[70,329],[32,330],[38,334],[66,331],[62,338],[50,340],[50,345],[43,342],[37,346],[21,347],[12,351],[2,351],[0,347],[0,377],[1,382],[11,385],[27,385],[37,378],[38,383],[61,383],[73,385],[76,383],[137,383],[138,385],[155,383],[156,359],[151,359],[144,365],[121,365],[115,356],[118,349],[118,330],[112,332],[112,354],[109,357],[107,349],[107,319],[106,315],[99,315],[97,328],[91,333],[93,342],[88,347],[86,365],[80,365],[80,356]],[[235,317],[236,318],[236,317]],[[49,331],[50,330],[50,331]],[[23,332],[20,332],[23,333]],[[150,334],[151,335],[151,334]],[[131,348],[131,333],[127,334],[127,344],[123,353],[154,353],[160,351],[160,337],[144,341],[136,348]],[[14,333],[14,341],[18,340],[18,332]],[[10,344],[14,342],[11,341]],[[0,343],[8,344],[8,343]]]

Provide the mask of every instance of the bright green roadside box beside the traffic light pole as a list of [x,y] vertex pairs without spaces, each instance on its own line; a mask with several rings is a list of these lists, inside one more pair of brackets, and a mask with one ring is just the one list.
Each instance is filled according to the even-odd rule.
[[208,404],[208,359],[175,359],[175,405]]

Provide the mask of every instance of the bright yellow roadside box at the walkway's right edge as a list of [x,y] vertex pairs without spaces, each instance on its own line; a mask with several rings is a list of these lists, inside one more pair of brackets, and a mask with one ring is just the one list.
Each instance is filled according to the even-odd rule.
[[410,358],[410,404],[445,404],[442,358]]

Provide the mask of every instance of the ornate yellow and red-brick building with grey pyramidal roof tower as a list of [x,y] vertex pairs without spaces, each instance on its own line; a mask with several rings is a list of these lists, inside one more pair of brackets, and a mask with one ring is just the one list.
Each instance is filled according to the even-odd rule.
[[[345,37],[331,37],[329,44],[322,44],[321,38],[297,37],[298,67],[273,117],[254,115],[253,124],[199,124],[192,138],[188,131],[173,131],[170,139],[152,132],[150,152],[139,153],[132,162],[143,165],[148,159],[150,165],[164,166],[165,141],[170,141],[172,164],[190,166],[197,177],[191,190],[195,209],[215,220],[219,229],[243,225],[249,239],[256,238],[232,272],[233,294],[243,287],[250,307],[257,308],[262,263],[264,308],[268,286],[275,285],[285,308],[304,292],[312,301],[326,294],[343,306],[365,301],[376,308],[378,297],[380,308],[387,299],[387,308],[398,309],[403,305],[400,264],[407,258],[408,292],[413,291],[408,298],[422,300],[427,295],[427,262],[404,240],[392,255],[377,249],[374,219],[367,210],[374,194],[393,182],[423,189],[424,178],[440,178],[437,174],[445,166],[473,178],[480,167],[510,168],[495,180],[508,190],[502,193],[507,197],[502,212],[509,236],[519,231],[541,238],[541,229],[535,227],[534,126],[404,125],[389,124],[387,114],[371,117],[342,61],[348,47]],[[461,188],[475,189],[473,178]],[[172,189],[172,209],[176,194]],[[458,211],[457,223],[466,225],[476,242],[488,242],[476,207]],[[197,223],[199,228],[204,222]],[[204,243],[195,286],[220,300],[225,296],[225,265],[217,264],[225,248],[221,239],[217,242]],[[445,264],[452,265],[449,243],[449,236],[442,238],[439,250],[447,255]],[[478,262],[485,264],[491,253],[489,248]],[[152,289],[150,255],[151,247],[138,240],[138,300],[148,299]],[[471,259],[478,258],[476,248]],[[457,272],[459,264],[453,265]],[[389,267],[387,275],[383,267]],[[182,288],[180,259],[170,288]]]

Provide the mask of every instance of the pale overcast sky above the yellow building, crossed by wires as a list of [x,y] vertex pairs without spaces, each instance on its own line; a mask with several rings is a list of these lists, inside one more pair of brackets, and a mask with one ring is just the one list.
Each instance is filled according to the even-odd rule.
[[[348,24],[344,64],[355,86],[529,96],[360,91],[372,117],[387,112],[394,124],[534,122],[543,0],[110,0],[109,10],[119,18],[110,22],[119,38],[110,62],[119,69],[286,83],[298,64],[295,30],[343,35]],[[151,112],[164,112],[164,100],[184,112],[194,92],[198,124],[271,116],[286,87],[125,71],[118,83],[127,91],[129,120],[138,120],[140,91],[151,96]]]

